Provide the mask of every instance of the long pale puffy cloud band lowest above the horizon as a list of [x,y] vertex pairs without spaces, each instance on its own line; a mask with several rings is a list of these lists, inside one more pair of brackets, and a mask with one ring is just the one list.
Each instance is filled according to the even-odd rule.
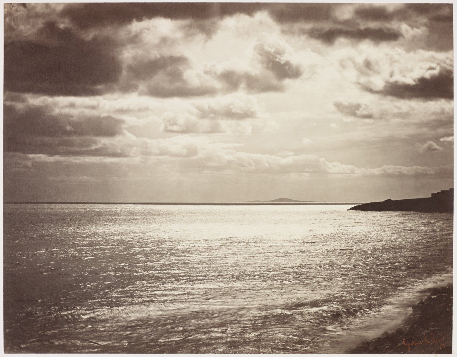
[[[129,138],[120,137],[119,139],[128,140]],[[414,177],[441,177],[452,178],[452,165],[425,167],[425,166],[400,166],[400,165],[384,165],[375,169],[360,168],[354,165],[345,165],[340,162],[329,162],[317,155],[265,155],[253,154],[244,151],[236,151],[229,147],[224,147],[218,144],[208,142],[206,140],[191,138],[188,135],[176,136],[170,139],[144,140],[135,143],[136,150],[131,148],[131,151],[124,151],[123,155],[111,155],[113,157],[128,158],[128,157],[154,157],[168,156],[176,159],[186,159],[176,161],[175,164],[189,171],[214,171],[214,172],[231,172],[231,173],[250,173],[250,174],[308,174],[308,175],[352,175],[352,176],[414,176]],[[112,143],[113,144],[113,143]],[[140,144],[140,145],[138,145]],[[138,146],[141,149],[138,150]],[[231,145],[228,145],[231,146]],[[128,145],[122,145],[122,148]],[[99,148],[98,152],[101,155],[106,155],[110,146]],[[111,147],[112,149],[112,147]],[[106,150],[106,151],[103,151]],[[74,159],[85,156],[84,150]],[[91,155],[89,155],[91,156]],[[93,156],[93,155],[92,155]],[[43,155],[22,155],[8,156],[8,160],[13,160],[16,167],[32,167],[35,160],[45,160]],[[54,161],[69,161],[72,158],[57,156]],[[20,164],[19,162],[24,162]],[[77,160],[76,162],[84,163],[85,160]]]

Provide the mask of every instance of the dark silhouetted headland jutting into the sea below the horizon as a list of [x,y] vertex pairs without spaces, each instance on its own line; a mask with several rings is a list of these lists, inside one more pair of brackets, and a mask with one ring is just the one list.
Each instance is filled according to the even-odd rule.
[[348,211],[413,211],[413,212],[454,212],[454,189],[432,193],[431,197],[411,198],[406,200],[391,200],[370,202],[354,206]]

